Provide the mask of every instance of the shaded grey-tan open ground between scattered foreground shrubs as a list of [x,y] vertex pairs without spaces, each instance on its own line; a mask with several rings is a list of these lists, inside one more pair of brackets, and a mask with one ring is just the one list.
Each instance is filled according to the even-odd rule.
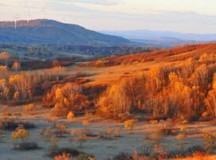
[[[19,110],[20,107],[13,108],[13,111]],[[33,115],[23,115],[18,117],[25,121],[33,122],[37,128],[29,130],[30,138],[29,141],[37,142],[41,147],[39,150],[35,151],[16,151],[13,150],[14,140],[11,138],[11,132],[7,131],[3,136],[1,136],[0,141],[0,160],[50,160],[47,157],[50,143],[46,142],[41,136],[42,129],[52,126],[53,122],[49,122],[46,116],[43,114],[46,111],[41,112],[40,110]],[[83,125],[82,122],[88,120],[89,124]],[[68,131],[71,132],[74,129],[87,129],[89,132],[95,135],[105,134],[110,130],[119,130],[119,137],[112,137],[111,139],[104,139],[99,137],[88,137],[87,141],[83,143],[80,148],[78,142],[75,140],[74,135],[68,134],[65,138],[61,138],[58,143],[59,147],[70,147],[75,148],[83,152],[87,152],[96,156],[97,160],[103,160],[106,158],[111,158],[121,152],[132,153],[134,150],[142,151],[145,147],[151,146],[153,140],[149,140],[165,122],[158,123],[148,123],[148,122],[137,122],[134,125],[134,129],[130,132],[128,129],[124,128],[123,123],[117,123],[110,120],[104,120],[99,117],[90,115],[85,117],[75,118],[72,123],[66,120],[58,120],[56,123],[65,124],[68,126]],[[186,138],[184,140],[179,140],[176,136],[161,136],[160,144],[166,150],[180,149],[183,144],[184,148],[193,145],[203,145],[202,135],[205,132],[216,132],[216,126],[212,123],[193,123],[184,125],[187,130]],[[176,125],[175,127],[180,127]]]

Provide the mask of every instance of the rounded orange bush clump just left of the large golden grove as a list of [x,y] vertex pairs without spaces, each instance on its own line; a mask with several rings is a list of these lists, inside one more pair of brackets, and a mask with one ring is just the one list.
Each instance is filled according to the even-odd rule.
[[43,98],[43,106],[53,108],[52,116],[66,117],[70,112],[82,112],[88,106],[88,98],[76,83],[54,86]]

